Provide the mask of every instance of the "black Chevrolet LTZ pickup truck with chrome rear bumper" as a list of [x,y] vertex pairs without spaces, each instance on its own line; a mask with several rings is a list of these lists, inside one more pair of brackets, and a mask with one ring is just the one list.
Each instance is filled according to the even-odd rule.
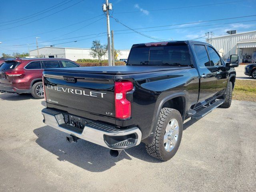
[[43,122],[110,149],[145,143],[151,156],[177,152],[183,122],[231,105],[238,56],[225,63],[204,42],[134,44],[126,66],[48,68]]

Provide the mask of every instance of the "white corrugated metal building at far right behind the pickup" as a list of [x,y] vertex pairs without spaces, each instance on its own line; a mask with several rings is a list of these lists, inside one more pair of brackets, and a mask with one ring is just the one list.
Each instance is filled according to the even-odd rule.
[[253,60],[252,57],[256,55],[256,31],[214,37],[210,38],[208,43],[216,48],[224,60],[232,54],[237,54],[240,57],[240,63],[250,63]]

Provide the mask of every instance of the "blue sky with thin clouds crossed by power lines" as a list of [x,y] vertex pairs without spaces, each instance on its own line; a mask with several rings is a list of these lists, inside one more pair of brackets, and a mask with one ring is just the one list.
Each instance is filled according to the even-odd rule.
[[[109,0],[115,49],[166,40],[205,41],[227,30],[256,30],[256,0]],[[38,46],[90,48],[107,43],[104,0],[4,0],[0,8],[0,56]],[[243,18],[234,18],[250,16]],[[233,18],[228,20],[220,20]],[[209,20],[217,20],[204,22]],[[252,21],[254,20],[254,21]],[[190,23],[190,24],[188,24]],[[162,26],[162,27],[159,27]],[[144,29],[140,29],[144,28]],[[135,29],[135,31],[130,30]],[[202,37],[202,38],[200,38]],[[74,42],[76,41],[76,42]],[[29,44],[29,45],[27,45]]]

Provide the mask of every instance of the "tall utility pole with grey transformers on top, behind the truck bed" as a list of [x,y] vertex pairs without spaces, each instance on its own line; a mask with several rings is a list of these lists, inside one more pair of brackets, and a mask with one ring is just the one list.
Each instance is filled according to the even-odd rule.
[[104,12],[106,12],[106,17],[107,17],[108,65],[112,66],[111,45],[110,45],[110,24],[109,24],[109,10],[112,10],[112,3],[108,3],[108,0],[106,0],[106,4],[102,5],[102,9]]

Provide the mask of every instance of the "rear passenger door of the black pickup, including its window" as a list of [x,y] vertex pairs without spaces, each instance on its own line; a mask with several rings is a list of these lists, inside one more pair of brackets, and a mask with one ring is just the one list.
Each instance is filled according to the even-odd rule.
[[211,99],[216,93],[216,67],[210,62],[206,46],[204,44],[194,44],[194,50],[198,63],[200,78],[200,92],[198,102],[204,103]]

